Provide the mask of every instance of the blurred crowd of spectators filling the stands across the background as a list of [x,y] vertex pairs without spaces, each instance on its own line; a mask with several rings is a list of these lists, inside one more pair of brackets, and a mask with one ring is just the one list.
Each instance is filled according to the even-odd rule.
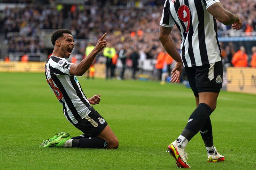
[[[84,0],[84,4],[72,6],[56,4],[54,0],[36,1],[48,4],[37,6],[33,5],[33,0],[15,2],[28,5],[25,8],[6,8],[0,18],[1,33],[9,40],[9,52],[43,52],[42,29],[63,28],[65,21],[70,21],[66,26],[69,25],[75,39],[88,43],[96,43],[107,32],[108,46],[115,48],[119,58],[131,59],[131,63],[138,63],[133,62],[135,59],[156,59],[158,62],[159,54],[164,52],[158,40],[164,0]],[[255,0],[225,0],[221,3],[243,20],[242,32],[256,31]],[[218,22],[218,28],[225,31],[230,26]],[[176,26],[171,36],[180,51],[181,38]],[[72,53],[85,55],[88,43],[77,43]],[[232,43],[221,44],[221,47],[225,63],[234,65],[231,61],[237,49]]]

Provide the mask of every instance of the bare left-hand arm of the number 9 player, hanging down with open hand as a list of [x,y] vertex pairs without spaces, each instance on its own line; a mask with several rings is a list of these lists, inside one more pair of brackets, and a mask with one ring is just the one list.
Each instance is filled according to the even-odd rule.
[[172,70],[172,79],[171,82],[172,83],[178,83],[180,80],[180,76],[182,73],[182,60],[180,57],[180,54],[178,53],[178,51],[175,48],[175,45],[170,37],[170,33],[172,32],[172,28],[171,27],[164,27],[164,26],[160,26],[159,28],[159,40],[161,41],[164,49],[166,50],[166,52],[172,56],[172,58],[176,61],[175,63],[175,67]]

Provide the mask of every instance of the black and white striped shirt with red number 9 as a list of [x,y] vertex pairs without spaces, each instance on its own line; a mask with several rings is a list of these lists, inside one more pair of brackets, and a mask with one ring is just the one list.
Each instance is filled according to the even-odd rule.
[[219,0],[166,0],[161,26],[178,27],[184,66],[193,67],[221,61],[216,19],[207,11]]

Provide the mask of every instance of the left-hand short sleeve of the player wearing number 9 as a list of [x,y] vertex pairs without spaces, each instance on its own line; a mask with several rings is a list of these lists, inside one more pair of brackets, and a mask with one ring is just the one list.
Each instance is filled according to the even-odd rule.
[[169,13],[170,11],[170,2],[166,0],[164,3],[164,10],[161,17],[160,25],[165,27],[174,27],[174,21]]

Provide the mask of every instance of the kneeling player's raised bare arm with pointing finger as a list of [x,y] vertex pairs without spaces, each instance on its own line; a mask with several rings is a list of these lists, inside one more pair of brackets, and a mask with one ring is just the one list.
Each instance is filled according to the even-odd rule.
[[107,33],[105,33],[100,40],[97,42],[95,48],[92,50],[92,52],[80,63],[73,64],[70,67],[69,74],[74,76],[82,76],[91,66],[95,56],[107,45],[107,41],[104,40]]

